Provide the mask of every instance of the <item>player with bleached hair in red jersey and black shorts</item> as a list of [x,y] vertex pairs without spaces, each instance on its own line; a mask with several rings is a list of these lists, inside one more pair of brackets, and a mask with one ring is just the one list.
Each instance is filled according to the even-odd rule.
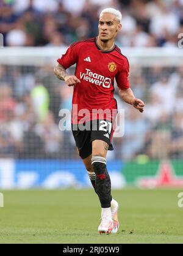
[[[54,69],[57,78],[73,86],[73,136],[101,203],[98,232],[108,234],[117,233],[119,228],[118,203],[111,195],[106,165],[107,151],[113,150],[113,121],[117,113],[117,102],[113,97],[114,78],[121,99],[140,112],[143,112],[145,106],[129,88],[129,62],[115,45],[115,37],[121,29],[121,18],[118,10],[102,10],[98,37],[74,42],[57,59]],[[73,64],[76,64],[76,72],[68,75],[66,69]]]

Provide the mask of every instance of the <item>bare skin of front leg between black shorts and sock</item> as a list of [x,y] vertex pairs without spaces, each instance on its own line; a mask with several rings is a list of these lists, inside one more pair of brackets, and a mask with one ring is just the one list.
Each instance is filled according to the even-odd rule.
[[101,156],[106,158],[109,145],[103,140],[92,141],[92,156]]

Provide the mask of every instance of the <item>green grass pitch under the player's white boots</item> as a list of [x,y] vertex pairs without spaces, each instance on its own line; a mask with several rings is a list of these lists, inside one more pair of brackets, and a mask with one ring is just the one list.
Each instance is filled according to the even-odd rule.
[[86,190],[13,190],[0,208],[0,243],[183,243],[181,190],[114,190],[120,230],[99,235],[100,207]]

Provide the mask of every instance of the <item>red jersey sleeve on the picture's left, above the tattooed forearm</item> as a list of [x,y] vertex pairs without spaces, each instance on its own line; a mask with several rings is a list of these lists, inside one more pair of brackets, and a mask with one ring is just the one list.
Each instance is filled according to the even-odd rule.
[[59,64],[62,65],[65,69],[68,69],[68,67],[71,67],[74,64],[76,64],[77,56],[78,56],[77,44],[70,45],[70,47],[66,50],[66,52],[63,53],[63,55],[60,56],[59,59],[57,59],[57,62],[59,62]]

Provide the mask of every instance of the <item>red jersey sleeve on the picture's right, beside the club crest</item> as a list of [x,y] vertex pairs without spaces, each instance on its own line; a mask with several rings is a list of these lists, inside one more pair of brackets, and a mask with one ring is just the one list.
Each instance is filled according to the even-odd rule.
[[116,75],[117,85],[120,89],[127,89],[129,85],[129,62],[124,58],[123,67]]

